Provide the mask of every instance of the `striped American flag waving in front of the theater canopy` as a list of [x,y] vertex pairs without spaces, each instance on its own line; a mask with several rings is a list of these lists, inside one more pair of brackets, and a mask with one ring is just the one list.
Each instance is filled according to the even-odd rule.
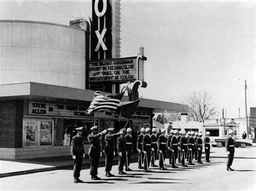
[[87,109],[86,113],[91,114],[91,112],[103,110],[116,111],[124,93],[125,91],[122,91],[122,93],[116,95],[104,95],[101,91],[95,91],[95,97],[93,98],[90,107]]

